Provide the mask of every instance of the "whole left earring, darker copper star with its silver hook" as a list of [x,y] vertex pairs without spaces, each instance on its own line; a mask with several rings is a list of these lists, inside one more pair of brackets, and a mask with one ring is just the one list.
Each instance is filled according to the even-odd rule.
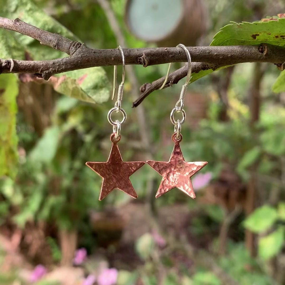
[[[138,198],[137,193],[135,192],[129,177],[139,168],[141,168],[145,163],[144,161],[123,162],[121,153],[117,145],[117,143],[119,143],[121,139],[121,125],[127,119],[127,114],[125,110],[121,107],[125,81],[125,58],[121,46],[118,46],[118,48],[122,55],[123,76],[122,82],[118,87],[117,101],[115,103],[115,107],[111,108],[107,115],[109,123],[113,125],[113,133],[110,136],[111,142],[113,144],[111,146],[109,158],[106,162],[86,162],[86,165],[89,168],[91,168],[103,178],[99,200],[105,198],[115,188],[122,190],[133,198]],[[115,65],[112,99],[114,98],[116,92],[116,77],[117,66]],[[121,122],[119,120],[115,120],[114,122],[111,119],[111,115],[114,111],[116,111],[117,113],[121,112],[123,114],[123,119]]]

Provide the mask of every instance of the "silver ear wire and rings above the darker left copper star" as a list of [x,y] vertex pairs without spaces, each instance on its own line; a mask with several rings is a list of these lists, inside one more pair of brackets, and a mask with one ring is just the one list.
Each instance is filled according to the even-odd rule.
[[[118,93],[117,93],[117,101],[115,103],[115,107],[111,108],[108,112],[107,119],[111,125],[113,125],[113,133],[115,133],[115,138],[117,139],[120,136],[121,133],[121,124],[123,124],[127,119],[127,114],[125,110],[121,107],[121,102],[123,99],[123,91],[124,91],[124,82],[125,82],[125,57],[123,53],[123,49],[121,46],[118,46],[121,55],[122,55],[122,66],[123,66],[123,75],[122,75],[122,82],[118,87]],[[116,85],[117,85],[117,65],[114,66],[114,84],[113,84],[113,95],[112,100],[115,97],[116,92]],[[120,122],[119,120],[116,120],[115,122],[111,119],[112,113],[116,111],[121,112],[123,114],[123,119]]]

